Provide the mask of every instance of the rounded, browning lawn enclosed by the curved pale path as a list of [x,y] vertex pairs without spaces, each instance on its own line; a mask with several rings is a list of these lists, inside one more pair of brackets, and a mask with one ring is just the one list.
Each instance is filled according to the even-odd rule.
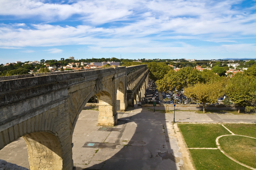
[[243,136],[223,136],[219,139],[219,143],[229,156],[256,168],[256,139]]

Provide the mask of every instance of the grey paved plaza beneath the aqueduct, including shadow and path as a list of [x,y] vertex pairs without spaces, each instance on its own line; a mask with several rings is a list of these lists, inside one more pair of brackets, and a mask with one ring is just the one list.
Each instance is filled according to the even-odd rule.
[[[198,114],[193,112],[200,109],[196,107],[175,109],[178,122],[256,123],[256,115]],[[72,148],[77,170],[194,169],[177,124],[172,122],[173,113],[152,112],[148,107],[129,107],[128,110],[118,113],[118,125],[114,127],[97,126],[98,111],[80,113]],[[3,148],[0,159],[29,169],[24,139],[19,138]]]

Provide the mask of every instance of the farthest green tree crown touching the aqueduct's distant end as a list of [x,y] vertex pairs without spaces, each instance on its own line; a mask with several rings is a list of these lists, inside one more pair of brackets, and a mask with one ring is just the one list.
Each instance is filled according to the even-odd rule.
[[162,62],[150,62],[147,64],[150,71],[150,78],[154,81],[163,79],[171,67]]

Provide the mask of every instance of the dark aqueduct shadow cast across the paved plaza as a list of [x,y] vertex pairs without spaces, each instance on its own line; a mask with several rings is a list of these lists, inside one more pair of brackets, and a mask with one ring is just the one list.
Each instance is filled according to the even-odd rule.
[[[136,126],[127,146],[110,159],[86,169],[177,169],[175,162],[179,160],[175,158],[173,150],[170,148],[166,128],[168,121],[166,122],[165,119],[163,113],[143,111],[118,119],[118,125],[123,124],[123,127],[118,140],[113,144],[113,149],[122,143],[124,138],[121,136],[124,132],[133,130],[132,127]],[[103,151],[104,147],[97,154],[100,155],[101,150]],[[76,169],[83,168],[77,166]]]

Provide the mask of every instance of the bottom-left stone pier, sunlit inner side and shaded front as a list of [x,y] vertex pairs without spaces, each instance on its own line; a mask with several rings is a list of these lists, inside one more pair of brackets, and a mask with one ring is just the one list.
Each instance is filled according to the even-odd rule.
[[72,170],[72,138],[70,132],[59,141],[48,132],[29,133],[23,138],[28,149],[28,160],[31,170],[52,169]]

